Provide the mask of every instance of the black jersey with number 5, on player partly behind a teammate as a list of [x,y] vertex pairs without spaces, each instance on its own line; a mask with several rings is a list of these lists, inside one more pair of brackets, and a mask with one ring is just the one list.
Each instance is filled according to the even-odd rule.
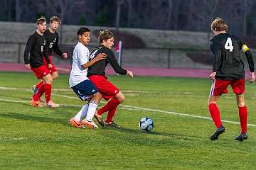
[[43,35],[46,36],[46,55],[52,55],[54,51],[57,55],[62,56],[63,52],[60,50],[58,46],[58,33],[50,33],[50,30],[47,29]]

